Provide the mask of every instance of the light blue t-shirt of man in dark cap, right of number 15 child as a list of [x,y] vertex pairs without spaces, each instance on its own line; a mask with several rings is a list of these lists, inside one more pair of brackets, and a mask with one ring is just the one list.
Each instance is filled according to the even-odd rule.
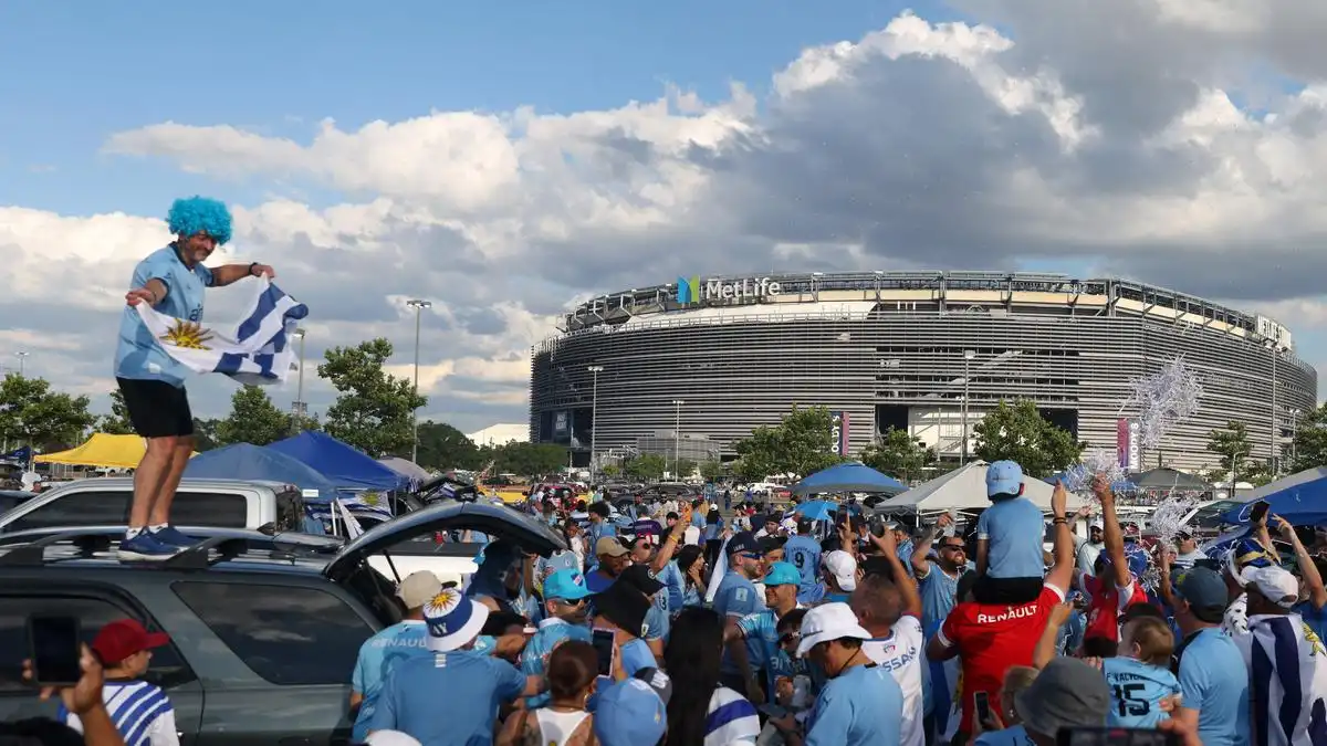
[[1182,708],[1198,710],[1202,746],[1249,743],[1249,669],[1225,632],[1200,629],[1180,654]]

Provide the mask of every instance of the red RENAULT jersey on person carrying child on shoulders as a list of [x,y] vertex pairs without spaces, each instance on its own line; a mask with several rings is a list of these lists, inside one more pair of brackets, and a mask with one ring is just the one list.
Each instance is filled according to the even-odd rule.
[[999,690],[1009,666],[1032,665],[1032,653],[1046,629],[1051,609],[1064,603],[1064,591],[1043,585],[1042,595],[1027,604],[978,604],[965,601],[954,607],[940,628],[946,646],[958,646],[963,666],[959,697],[963,718],[958,729],[971,733],[975,710],[973,694],[986,692],[991,710],[1001,713]]

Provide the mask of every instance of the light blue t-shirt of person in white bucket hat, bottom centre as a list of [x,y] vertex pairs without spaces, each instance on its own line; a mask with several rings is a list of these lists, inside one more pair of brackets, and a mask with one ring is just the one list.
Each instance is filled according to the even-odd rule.
[[904,693],[885,669],[852,666],[831,678],[816,697],[807,746],[882,746],[897,743]]

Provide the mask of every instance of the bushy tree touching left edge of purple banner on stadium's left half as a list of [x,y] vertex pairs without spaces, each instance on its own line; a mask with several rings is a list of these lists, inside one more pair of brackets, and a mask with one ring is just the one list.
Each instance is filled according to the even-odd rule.
[[740,457],[736,473],[750,482],[772,474],[815,474],[843,461],[833,446],[833,418],[823,406],[794,408],[779,425],[756,427],[733,445]]

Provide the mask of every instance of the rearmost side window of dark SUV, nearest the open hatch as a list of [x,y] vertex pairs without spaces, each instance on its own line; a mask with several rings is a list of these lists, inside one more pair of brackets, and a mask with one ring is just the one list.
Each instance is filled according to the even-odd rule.
[[317,588],[184,581],[179,596],[253,673],[272,684],[345,684],[369,624]]

